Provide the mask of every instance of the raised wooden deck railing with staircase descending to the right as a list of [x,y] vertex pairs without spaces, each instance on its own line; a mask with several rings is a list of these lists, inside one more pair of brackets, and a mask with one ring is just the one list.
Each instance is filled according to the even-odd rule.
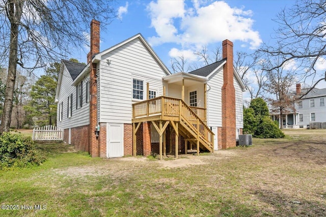
[[213,152],[214,134],[205,123],[206,109],[190,107],[181,99],[165,96],[132,104],[133,123],[157,120],[169,121],[172,126],[178,122],[178,133],[186,141]]

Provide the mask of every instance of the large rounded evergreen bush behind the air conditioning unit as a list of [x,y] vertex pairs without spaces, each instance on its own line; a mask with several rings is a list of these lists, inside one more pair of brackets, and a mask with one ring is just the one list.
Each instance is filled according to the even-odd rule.
[[257,138],[282,138],[283,132],[271,120],[266,102],[262,98],[251,101],[243,110],[243,132]]

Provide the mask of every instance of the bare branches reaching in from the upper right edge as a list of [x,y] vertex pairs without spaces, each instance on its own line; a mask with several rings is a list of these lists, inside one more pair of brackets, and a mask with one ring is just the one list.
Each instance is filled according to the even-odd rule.
[[[265,45],[261,51],[272,56],[280,56],[282,61],[269,70],[282,68],[284,64],[295,61],[301,67],[303,80],[311,77],[312,88],[320,81],[326,81],[326,71],[317,70],[318,61],[326,57],[326,1],[297,1],[290,9],[283,9],[276,21],[279,23],[276,39],[278,47]],[[311,88],[311,89],[312,89]],[[309,92],[309,91],[308,91]],[[308,93],[307,92],[307,93]]]

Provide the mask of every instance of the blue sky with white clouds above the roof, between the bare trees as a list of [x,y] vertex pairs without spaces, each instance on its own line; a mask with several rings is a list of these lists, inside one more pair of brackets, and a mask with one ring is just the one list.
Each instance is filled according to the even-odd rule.
[[[276,14],[294,1],[118,1],[119,18],[101,30],[100,50],[141,33],[170,68],[171,57],[196,61],[194,51],[229,39],[235,51],[251,53],[270,43]],[[86,62],[85,51],[74,58]]]

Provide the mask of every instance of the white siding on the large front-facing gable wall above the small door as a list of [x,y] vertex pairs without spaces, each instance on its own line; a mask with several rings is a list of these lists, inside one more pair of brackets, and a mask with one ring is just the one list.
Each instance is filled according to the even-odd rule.
[[[111,60],[110,65],[106,59]],[[144,89],[149,82],[149,88],[157,90],[158,97],[163,92],[163,76],[166,73],[138,38],[103,55],[99,76],[99,122],[131,123],[131,104],[137,102],[132,100],[132,79],[143,80]]]

